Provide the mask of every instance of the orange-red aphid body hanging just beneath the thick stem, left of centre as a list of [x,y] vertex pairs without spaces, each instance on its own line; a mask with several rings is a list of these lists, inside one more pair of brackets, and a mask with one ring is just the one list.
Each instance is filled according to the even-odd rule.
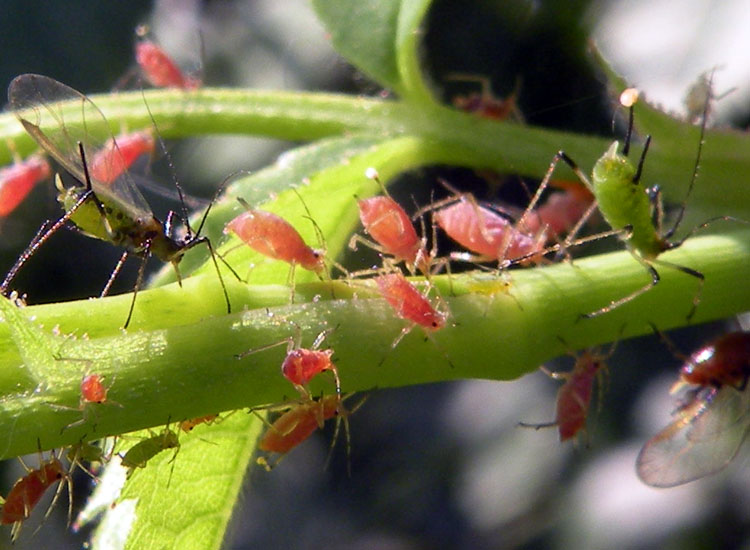
[[326,420],[340,411],[340,401],[335,395],[318,401],[306,401],[282,414],[263,434],[258,446],[262,451],[285,454],[305,441]]

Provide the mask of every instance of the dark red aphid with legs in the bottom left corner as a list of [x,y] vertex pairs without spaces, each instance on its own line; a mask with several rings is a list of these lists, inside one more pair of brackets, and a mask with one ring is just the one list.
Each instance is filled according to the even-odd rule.
[[[23,462],[21,464],[23,464]],[[24,467],[26,468],[25,465]],[[52,487],[58,481],[65,480],[68,486],[68,495],[70,499],[68,507],[68,523],[70,523],[73,509],[73,481],[69,472],[65,470],[62,462],[60,462],[56,456],[52,455],[49,459],[43,460],[40,463],[39,468],[36,470],[26,469],[28,473],[16,481],[11,488],[10,493],[8,493],[5,503],[3,504],[2,515],[0,516],[0,524],[13,524],[13,527],[11,528],[12,540],[15,540],[18,537],[23,522],[31,515],[32,510],[39,503],[44,493],[47,492],[47,489]],[[47,519],[52,511],[62,489],[63,485],[61,483],[49,505],[49,508],[47,509],[47,513],[44,515],[44,519]]]

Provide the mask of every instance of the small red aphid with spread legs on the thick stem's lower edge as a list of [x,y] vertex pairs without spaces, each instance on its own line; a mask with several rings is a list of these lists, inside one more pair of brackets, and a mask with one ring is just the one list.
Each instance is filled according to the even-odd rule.
[[237,359],[242,359],[250,354],[286,344],[286,357],[284,357],[284,361],[281,363],[281,373],[284,375],[284,378],[294,385],[294,388],[300,393],[300,395],[302,395],[307,401],[312,400],[310,390],[307,388],[310,380],[315,378],[321,372],[330,371],[336,382],[336,395],[340,400],[341,380],[339,378],[339,371],[331,360],[333,350],[318,349],[328,335],[334,330],[335,329],[324,330],[315,338],[311,348],[303,348],[301,347],[302,330],[295,325],[295,336],[290,336],[289,338],[285,338],[284,340],[274,342],[267,346],[245,351],[238,354]]

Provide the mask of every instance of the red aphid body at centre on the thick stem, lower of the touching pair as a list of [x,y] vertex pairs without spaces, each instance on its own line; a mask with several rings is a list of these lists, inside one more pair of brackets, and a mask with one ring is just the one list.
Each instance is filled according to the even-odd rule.
[[445,314],[437,311],[430,301],[401,273],[375,277],[378,290],[401,319],[411,321],[427,331],[445,326]]

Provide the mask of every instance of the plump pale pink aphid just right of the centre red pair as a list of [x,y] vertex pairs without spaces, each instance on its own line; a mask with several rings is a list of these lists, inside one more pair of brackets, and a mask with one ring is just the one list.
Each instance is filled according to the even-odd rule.
[[[438,226],[461,246],[478,254],[469,259],[477,262],[500,261],[529,256],[526,263],[538,263],[547,240],[546,232],[529,234],[520,231],[506,218],[461,195],[450,206],[434,214]],[[535,253],[540,254],[536,255]]]

